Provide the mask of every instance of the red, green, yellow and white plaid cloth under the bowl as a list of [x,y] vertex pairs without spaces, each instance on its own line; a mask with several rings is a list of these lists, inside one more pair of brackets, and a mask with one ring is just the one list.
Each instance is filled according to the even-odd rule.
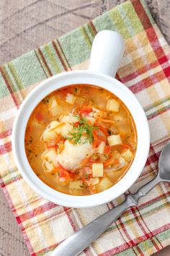
[[[125,54],[117,78],[135,93],[146,111],[151,129],[148,161],[130,192],[153,179],[158,156],[169,140],[170,51],[143,1],[126,1],[83,27],[4,64],[0,68],[1,187],[32,256],[50,255],[74,231],[122,202],[126,196],[95,208],[72,209],[55,205],[37,195],[24,182],[12,156],[12,123],[25,96],[53,74],[86,69],[94,36],[104,29],[116,30],[125,39]],[[157,185],[140,200],[138,207],[126,210],[81,255],[151,255],[169,245],[169,195],[169,184]]]

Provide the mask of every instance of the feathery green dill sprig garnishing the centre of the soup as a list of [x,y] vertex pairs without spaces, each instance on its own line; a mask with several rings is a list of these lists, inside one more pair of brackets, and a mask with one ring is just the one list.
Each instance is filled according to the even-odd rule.
[[[76,116],[79,121],[77,127],[73,127],[73,132],[69,133],[69,137],[66,137],[67,140],[73,140],[74,144],[81,143],[84,144],[87,141],[90,143],[93,142],[93,129],[98,129],[99,127],[92,127],[88,124],[88,121],[85,116]],[[86,139],[81,140],[82,135],[86,133]]]

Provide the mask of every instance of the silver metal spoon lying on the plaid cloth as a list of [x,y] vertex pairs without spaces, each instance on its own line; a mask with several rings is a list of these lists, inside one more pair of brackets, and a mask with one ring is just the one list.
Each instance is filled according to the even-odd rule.
[[158,161],[158,175],[151,182],[140,187],[135,194],[128,195],[126,200],[117,207],[91,221],[62,242],[51,256],[76,256],[96,240],[116,219],[131,206],[138,205],[140,197],[148,194],[159,182],[170,182],[170,142],[166,144]]

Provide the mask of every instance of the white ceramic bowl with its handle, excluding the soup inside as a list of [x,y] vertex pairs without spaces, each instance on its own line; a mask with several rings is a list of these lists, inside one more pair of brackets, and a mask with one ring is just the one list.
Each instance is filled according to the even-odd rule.
[[[116,48],[116,51],[112,54],[113,48]],[[133,95],[133,93],[131,93],[131,91],[121,82],[108,75],[115,75],[117,66],[122,57],[122,52],[123,41],[121,36],[109,30],[103,30],[98,33],[94,39],[89,70],[63,72],[48,78],[48,80],[45,80],[38,85],[37,88],[32,90],[19,108],[12,129],[12,150],[14,153],[14,159],[17,163],[17,168],[19,168],[22,177],[27,184],[32,187],[32,189],[42,197],[45,197],[58,205],[73,208],[84,208],[101,205],[105,202],[114,200],[133,185],[145,166],[150,145],[146,115],[143,108],[140,106],[140,103],[135,98],[135,95]],[[104,62],[103,58],[105,59],[106,57],[107,60]],[[34,171],[32,171],[24,150],[24,133],[27,121],[35,106],[37,106],[37,103],[54,90],[66,85],[74,84],[97,85],[100,88],[105,88],[111,93],[117,95],[133,115],[135,127],[137,129],[137,150],[128,172],[113,187],[95,195],[66,195],[48,187],[37,177]]]

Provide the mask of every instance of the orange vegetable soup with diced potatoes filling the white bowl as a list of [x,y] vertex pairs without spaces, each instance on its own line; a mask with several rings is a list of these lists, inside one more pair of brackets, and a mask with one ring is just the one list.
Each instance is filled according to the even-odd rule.
[[130,111],[114,94],[71,85],[36,106],[24,143],[42,182],[68,195],[91,195],[122,179],[133,162],[137,136]]

